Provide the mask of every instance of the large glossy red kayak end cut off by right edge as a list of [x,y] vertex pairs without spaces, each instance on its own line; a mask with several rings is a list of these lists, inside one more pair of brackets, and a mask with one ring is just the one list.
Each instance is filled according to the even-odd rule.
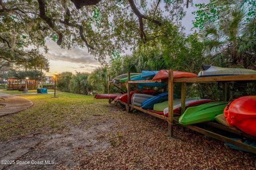
[[224,115],[229,125],[256,136],[256,96],[243,96],[231,101]]

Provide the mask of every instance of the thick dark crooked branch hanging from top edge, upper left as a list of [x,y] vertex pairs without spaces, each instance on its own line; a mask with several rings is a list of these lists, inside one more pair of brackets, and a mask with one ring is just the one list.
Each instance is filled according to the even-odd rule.
[[37,0],[38,4],[39,4],[39,16],[59,35],[59,39],[57,40],[57,44],[61,45],[62,43],[62,39],[63,39],[63,35],[62,33],[55,27],[54,22],[51,20],[51,18],[49,18],[48,16],[46,16],[45,14],[45,3],[44,0]]

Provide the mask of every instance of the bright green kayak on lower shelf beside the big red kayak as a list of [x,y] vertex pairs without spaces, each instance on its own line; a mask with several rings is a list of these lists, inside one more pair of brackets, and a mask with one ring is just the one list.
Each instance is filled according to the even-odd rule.
[[195,107],[189,107],[180,116],[179,123],[183,125],[202,123],[214,120],[214,117],[223,114],[228,102],[218,101]]

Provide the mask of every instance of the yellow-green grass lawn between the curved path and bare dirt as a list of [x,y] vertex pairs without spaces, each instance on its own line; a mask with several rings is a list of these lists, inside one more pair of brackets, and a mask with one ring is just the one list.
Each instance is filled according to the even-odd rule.
[[95,108],[93,103],[106,104],[107,100],[95,100],[93,96],[60,91],[58,98],[51,98],[52,96],[22,95],[21,97],[33,101],[34,106],[17,114],[0,117],[0,139],[17,138],[31,133],[61,132],[68,125],[79,125],[85,121],[85,125],[89,127],[90,118],[106,109]]

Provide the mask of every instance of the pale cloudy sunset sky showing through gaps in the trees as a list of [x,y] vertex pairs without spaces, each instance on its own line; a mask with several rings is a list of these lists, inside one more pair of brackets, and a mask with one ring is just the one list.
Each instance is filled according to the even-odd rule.
[[[201,2],[206,1],[194,1],[194,3]],[[192,21],[195,19],[195,15],[192,12],[196,11],[196,8],[189,5],[189,8],[185,10],[187,14],[182,20],[182,25],[185,27],[185,33],[189,34],[193,32],[191,28],[193,28]],[[45,56],[50,62],[50,71],[46,73],[47,76],[64,71],[91,73],[95,68],[100,66],[100,63],[95,60],[94,56],[87,52],[87,48],[62,49],[52,40],[46,40],[46,45],[49,51]],[[131,52],[127,50],[125,54],[131,54]]]

